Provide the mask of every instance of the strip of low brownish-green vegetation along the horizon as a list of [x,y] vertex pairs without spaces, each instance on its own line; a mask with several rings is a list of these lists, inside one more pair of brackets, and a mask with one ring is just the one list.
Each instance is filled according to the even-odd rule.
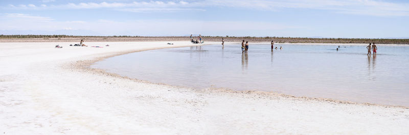
[[[409,44],[409,39],[383,39],[383,38],[306,38],[306,37],[235,37],[235,36],[203,36],[205,41],[253,41],[253,42],[269,42],[274,40],[275,42],[284,43],[396,43],[396,44]],[[154,36],[73,36],[73,35],[0,35],[0,40],[20,40],[21,41],[76,41],[78,39],[87,39],[87,41],[177,41],[177,40],[190,40],[188,36],[167,36],[167,37],[154,37]],[[194,37],[196,39],[196,37]]]

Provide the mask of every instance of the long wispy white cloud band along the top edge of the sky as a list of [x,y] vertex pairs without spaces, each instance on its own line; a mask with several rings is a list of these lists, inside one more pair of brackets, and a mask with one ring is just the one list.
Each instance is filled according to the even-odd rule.
[[[46,0],[43,2],[52,2]],[[280,11],[284,9],[315,9],[341,14],[358,14],[371,16],[409,16],[409,3],[393,3],[375,0],[203,0],[191,1],[142,1],[130,3],[69,3],[62,5],[9,5],[13,9],[100,9],[107,8],[127,12],[169,12],[199,10],[206,11],[208,7],[246,8],[248,10]]]

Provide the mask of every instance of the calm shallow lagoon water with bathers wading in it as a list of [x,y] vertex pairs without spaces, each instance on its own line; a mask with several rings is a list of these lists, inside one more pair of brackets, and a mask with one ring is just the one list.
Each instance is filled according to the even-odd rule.
[[[93,68],[172,85],[275,91],[294,96],[409,106],[409,47],[240,44],[131,53]],[[346,47],[346,48],[344,48]]]

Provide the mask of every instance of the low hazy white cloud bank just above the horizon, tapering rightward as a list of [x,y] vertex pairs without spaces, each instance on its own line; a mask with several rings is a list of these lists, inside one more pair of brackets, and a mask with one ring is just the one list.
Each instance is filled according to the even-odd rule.
[[202,33],[205,35],[242,34],[245,36],[246,34],[250,35],[250,33],[248,33],[249,31],[288,30],[298,28],[300,27],[261,21],[204,21],[173,19],[145,19],[132,21],[56,21],[50,17],[30,16],[27,14],[0,14],[0,31],[86,30],[92,31],[97,35],[157,36],[158,34],[185,35],[186,33]]

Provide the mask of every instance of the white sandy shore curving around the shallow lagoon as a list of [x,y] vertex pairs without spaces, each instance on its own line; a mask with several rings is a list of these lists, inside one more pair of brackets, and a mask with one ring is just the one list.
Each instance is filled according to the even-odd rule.
[[[409,134],[406,107],[192,89],[88,69],[110,56],[192,45],[167,42],[86,42],[110,45],[104,48],[66,45],[75,42],[0,43],[0,132]],[[63,48],[55,49],[56,44]]]

